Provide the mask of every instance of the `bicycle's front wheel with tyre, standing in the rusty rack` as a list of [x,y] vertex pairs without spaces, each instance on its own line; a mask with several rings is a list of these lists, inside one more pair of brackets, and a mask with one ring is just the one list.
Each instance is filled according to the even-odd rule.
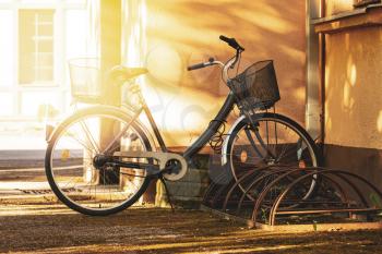
[[[227,143],[227,162],[235,181],[249,170],[260,168],[301,168],[303,172],[305,168],[319,166],[317,145],[297,122],[285,116],[267,112],[256,113],[251,118],[251,121],[242,118],[234,126]],[[263,185],[266,185],[272,179],[266,178],[264,181],[266,182]],[[299,190],[299,198],[310,197],[317,181],[315,176],[307,181]],[[241,183],[239,188],[243,192],[247,190]]]

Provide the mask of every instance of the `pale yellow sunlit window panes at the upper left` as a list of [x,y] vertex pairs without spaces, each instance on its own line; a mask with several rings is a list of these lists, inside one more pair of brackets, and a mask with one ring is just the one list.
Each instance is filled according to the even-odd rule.
[[53,10],[19,11],[19,83],[53,81]]

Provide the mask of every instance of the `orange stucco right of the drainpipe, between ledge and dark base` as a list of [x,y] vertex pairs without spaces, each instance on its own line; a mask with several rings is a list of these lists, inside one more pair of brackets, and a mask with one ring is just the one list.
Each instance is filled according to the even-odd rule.
[[382,148],[382,27],[326,35],[325,143]]

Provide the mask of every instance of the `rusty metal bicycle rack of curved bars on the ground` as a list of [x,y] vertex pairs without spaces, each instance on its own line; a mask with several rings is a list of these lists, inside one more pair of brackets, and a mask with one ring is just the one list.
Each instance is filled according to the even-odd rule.
[[[303,174],[301,176],[300,172]],[[311,181],[315,181],[317,185],[313,186]],[[356,181],[361,182],[382,198],[382,192],[370,181],[344,170],[321,167],[301,169],[266,166],[243,172],[236,182],[232,181],[225,185],[212,183],[204,196],[204,202],[207,202],[211,207],[223,208],[223,211],[219,213],[226,216],[230,216],[227,213],[235,211],[232,207],[237,206],[235,216],[246,221],[252,221],[252,225],[259,223],[256,217],[265,207],[263,213],[268,218],[268,221],[266,218],[265,221],[270,227],[276,223],[276,216],[320,214],[327,216],[348,213],[347,216],[350,218],[353,213],[378,214],[382,211],[382,207],[369,206]],[[358,196],[359,204],[350,202],[348,193],[344,189],[346,184],[354,191],[351,193],[356,197]],[[311,195],[305,194],[307,188],[310,188]],[[317,189],[311,191],[312,188]],[[290,195],[293,190],[296,191]],[[274,193],[275,195],[273,195]],[[313,194],[318,196],[312,196]],[[239,199],[237,199],[238,197]],[[250,209],[248,209],[249,206]],[[243,208],[246,208],[243,210],[246,213],[242,213]],[[251,213],[249,218],[247,217],[248,211]]]

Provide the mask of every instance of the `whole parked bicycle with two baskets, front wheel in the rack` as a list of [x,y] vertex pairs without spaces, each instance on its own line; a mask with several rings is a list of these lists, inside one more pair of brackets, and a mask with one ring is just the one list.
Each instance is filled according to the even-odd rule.
[[[303,128],[285,116],[267,111],[279,100],[273,61],[254,63],[230,78],[228,71],[239,65],[244,48],[235,38],[219,38],[235,49],[235,56],[226,63],[211,58],[188,70],[219,65],[230,92],[206,130],[184,153],[168,150],[134,83],[147,72],[142,68],[117,66],[109,73],[128,84],[131,96],[138,98],[136,105],[123,108],[98,105],[81,109],[49,133],[46,174],[63,204],[85,215],[110,215],[133,205],[153,179],[180,180],[193,155],[214,137],[235,107],[240,110],[240,117],[225,140],[220,140],[222,164],[229,167],[235,180],[246,170],[264,165],[293,165],[301,169],[319,165],[318,148]],[[93,71],[98,70],[94,68]],[[85,99],[102,96],[94,90],[86,94],[85,86],[97,87],[94,80],[93,84],[85,82],[81,88],[73,86],[72,95]],[[142,113],[148,119],[154,142],[150,138],[152,132],[139,119]],[[314,186],[315,179],[305,190],[303,198],[311,195]]]

